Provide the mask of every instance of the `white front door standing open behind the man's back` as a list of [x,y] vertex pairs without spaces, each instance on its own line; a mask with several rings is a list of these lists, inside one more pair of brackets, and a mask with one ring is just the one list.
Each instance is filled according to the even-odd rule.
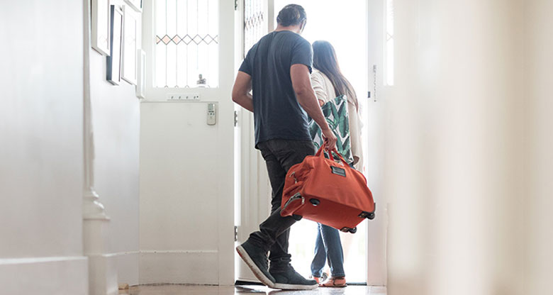
[[[272,1],[265,0],[240,0],[238,1],[238,17],[236,19],[237,56],[235,70],[238,67],[251,46],[262,36],[267,34],[269,26],[272,26]],[[235,138],[238,149],[235,155],[235,169],[237,178],[235,185],[235,225],[238,235],[236,245],[244,243],[255,230],[259,230],[262,223],[270,213],[271,187],[267,167],[261,153],[255,149],[253,113],[236,107],[238,123],[235,128]],[[236,256],[236,280],[243,282],[259,282],[252,274],[249,267]]]

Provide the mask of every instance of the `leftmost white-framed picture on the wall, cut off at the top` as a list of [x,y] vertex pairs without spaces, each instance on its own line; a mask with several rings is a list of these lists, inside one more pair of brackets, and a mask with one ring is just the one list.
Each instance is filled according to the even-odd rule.
[[102,55],[109,55],[110,9],[109,0],[92,0],[91,45]]

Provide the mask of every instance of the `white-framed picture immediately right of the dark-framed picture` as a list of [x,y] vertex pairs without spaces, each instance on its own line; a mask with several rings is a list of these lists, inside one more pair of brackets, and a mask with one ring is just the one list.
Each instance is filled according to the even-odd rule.
[[123,65],[122,77],[130,84],[136,84],[136,50],[138,20],[135,12],[128,6],[123,6]]

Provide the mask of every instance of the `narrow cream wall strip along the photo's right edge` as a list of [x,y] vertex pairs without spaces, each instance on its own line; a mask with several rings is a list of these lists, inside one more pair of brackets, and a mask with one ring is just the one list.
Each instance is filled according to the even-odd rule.
[[526,1],[525,294],[551,293],[553,273],[553,2]]

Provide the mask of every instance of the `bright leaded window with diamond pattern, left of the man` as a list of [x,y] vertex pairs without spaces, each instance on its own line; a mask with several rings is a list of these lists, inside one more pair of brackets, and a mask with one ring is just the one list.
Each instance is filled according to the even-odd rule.
[[155,87],[218,87],[218,0],[155,0]]

